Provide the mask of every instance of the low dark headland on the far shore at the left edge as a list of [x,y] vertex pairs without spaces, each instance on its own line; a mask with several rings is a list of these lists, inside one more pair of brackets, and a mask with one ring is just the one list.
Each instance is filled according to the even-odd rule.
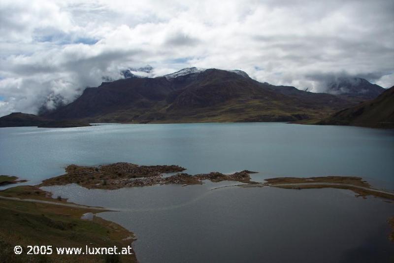
[[90,126],[90,124],[78,120],[50,120],[48,118],[22,112],[13,112],[0,118],[0,127],[28,126],[37,126],[39,128],[71,128]]

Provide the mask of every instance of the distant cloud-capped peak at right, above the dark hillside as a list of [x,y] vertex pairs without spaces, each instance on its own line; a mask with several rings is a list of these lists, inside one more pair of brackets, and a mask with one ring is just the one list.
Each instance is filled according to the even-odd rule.
[[327,85],[327,93],[358,102],[375,99],[384,91],[379,85],[357,77],[339,77]]

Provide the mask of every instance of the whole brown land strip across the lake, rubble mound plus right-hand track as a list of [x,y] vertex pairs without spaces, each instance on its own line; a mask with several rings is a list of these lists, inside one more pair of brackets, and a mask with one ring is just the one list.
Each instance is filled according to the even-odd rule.
[[[204,180],[211,182],[236,181],[240,187],[277,187],[284,189],[319,189],[338,188],[355,192],[357,196],[372,195],[394,199],[394,193],[374,189],[371,185],[356,176],[320,176],[320,177],[277,177],[265,179],[266,182],[251,181],[250,174],[256,173],[243,170],[232,174],[210,172],[191,175],[184,173],[186,168],[179,165],[138,165],[115,163],[99,166],[79,166],[70,164],[66,174],[42,181],[41,186],[78,184],[88,189],[119,189],[124,187],[142,187],[164,184],[193,185],[202,184]],[[175,173],[164,176],[164,174]]]

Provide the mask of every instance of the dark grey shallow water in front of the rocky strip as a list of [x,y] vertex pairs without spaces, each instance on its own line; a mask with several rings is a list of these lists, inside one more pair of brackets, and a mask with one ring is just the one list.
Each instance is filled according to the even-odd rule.
[[[233,182],[235,183],[235,182]],[[348,190],[226,183],[88,190],[44,187],[133,231],[140,262],[390,262],[393,203]]]

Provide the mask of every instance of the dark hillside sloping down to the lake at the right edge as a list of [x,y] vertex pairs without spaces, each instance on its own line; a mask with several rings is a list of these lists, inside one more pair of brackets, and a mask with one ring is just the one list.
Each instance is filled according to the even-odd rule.
[[376,99],[343,109],[328,118],[300,123],[394,129],[394,86]]

